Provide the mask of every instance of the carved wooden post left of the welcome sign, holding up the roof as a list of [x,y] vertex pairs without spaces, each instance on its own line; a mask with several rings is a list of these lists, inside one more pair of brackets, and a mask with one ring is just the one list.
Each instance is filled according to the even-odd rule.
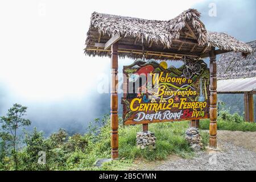
[[118,158],[118,43],[111,46],[111,74],[112,86],[110,97],[110,121],[111,121],[111,158]]

